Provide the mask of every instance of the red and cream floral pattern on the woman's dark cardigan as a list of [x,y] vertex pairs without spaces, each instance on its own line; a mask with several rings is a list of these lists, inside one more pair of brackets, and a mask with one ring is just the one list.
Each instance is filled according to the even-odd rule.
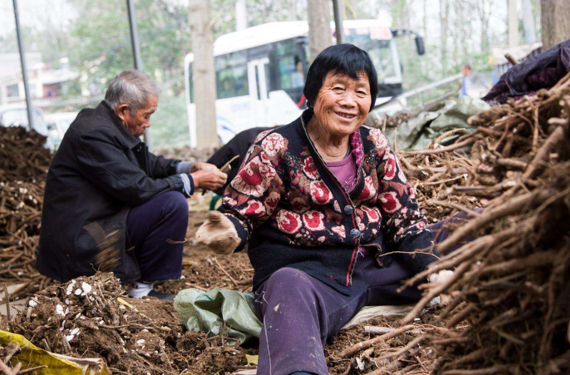
[[368,135],[363,142],[370,151],[363,153],[363,187],[352,200],[354,224],[345,226],[349,215],[346,198],[333,195],[333,185],[329,187],[325,181],[334,182],[319,174],[318,161],[307,146],[302,146],[299,154],[291,154],[288,149],[293,138],[285,139],[278,130],[259,137],[250,148],[222,210],[227,215],[234,213],[247,230],[268,220],[294,246],[344,244],[352,241],[346,228],[359,229],[363,244],[382,232],[398,242],[402,236],[424,230],[425,217],[386,137],[377,129],[364,131]]

